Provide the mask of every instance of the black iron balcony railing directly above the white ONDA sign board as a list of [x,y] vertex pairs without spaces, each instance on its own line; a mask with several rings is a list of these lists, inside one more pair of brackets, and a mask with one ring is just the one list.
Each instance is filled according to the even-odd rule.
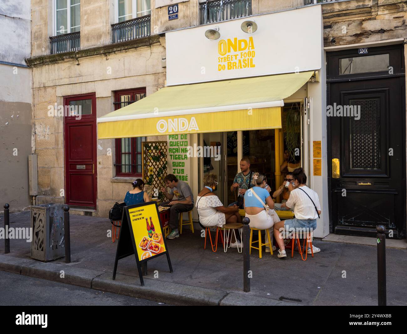
[[252,0],[214,0],[199,4],[201,24],[252,15]]

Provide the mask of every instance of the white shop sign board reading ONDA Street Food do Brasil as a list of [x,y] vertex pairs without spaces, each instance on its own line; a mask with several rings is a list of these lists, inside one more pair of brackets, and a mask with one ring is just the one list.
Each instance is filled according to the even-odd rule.
[[[243,32],[246,20],[257,31]],[[221,37],[209,40],[205,31],[216,26]],[[322,38],[320,5],[168,32],[167,85],[321,69]]]

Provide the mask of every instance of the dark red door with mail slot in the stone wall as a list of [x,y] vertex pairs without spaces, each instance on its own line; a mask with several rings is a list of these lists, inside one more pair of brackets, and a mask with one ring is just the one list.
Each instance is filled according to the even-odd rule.
[[65,186],[70,206],[96,208],[96,95],[64,98]]

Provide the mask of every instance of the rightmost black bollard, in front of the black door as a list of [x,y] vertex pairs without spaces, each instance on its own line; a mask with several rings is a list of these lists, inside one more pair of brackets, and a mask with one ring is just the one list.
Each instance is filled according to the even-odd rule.
[[379,306],[386,306],[386,229],[376,226],[377,231],[377,301]]

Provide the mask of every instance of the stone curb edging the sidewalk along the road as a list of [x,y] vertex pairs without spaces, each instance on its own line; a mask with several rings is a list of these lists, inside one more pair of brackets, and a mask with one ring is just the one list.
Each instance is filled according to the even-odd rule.
[[39,262],[4,254],[0,254],[0,270],[172,305],[301,305],[148,278],[144,278],[142,287],[136,276],[116,274],[116,280],[113,281],[111,272],[77,268],[72,264]]

